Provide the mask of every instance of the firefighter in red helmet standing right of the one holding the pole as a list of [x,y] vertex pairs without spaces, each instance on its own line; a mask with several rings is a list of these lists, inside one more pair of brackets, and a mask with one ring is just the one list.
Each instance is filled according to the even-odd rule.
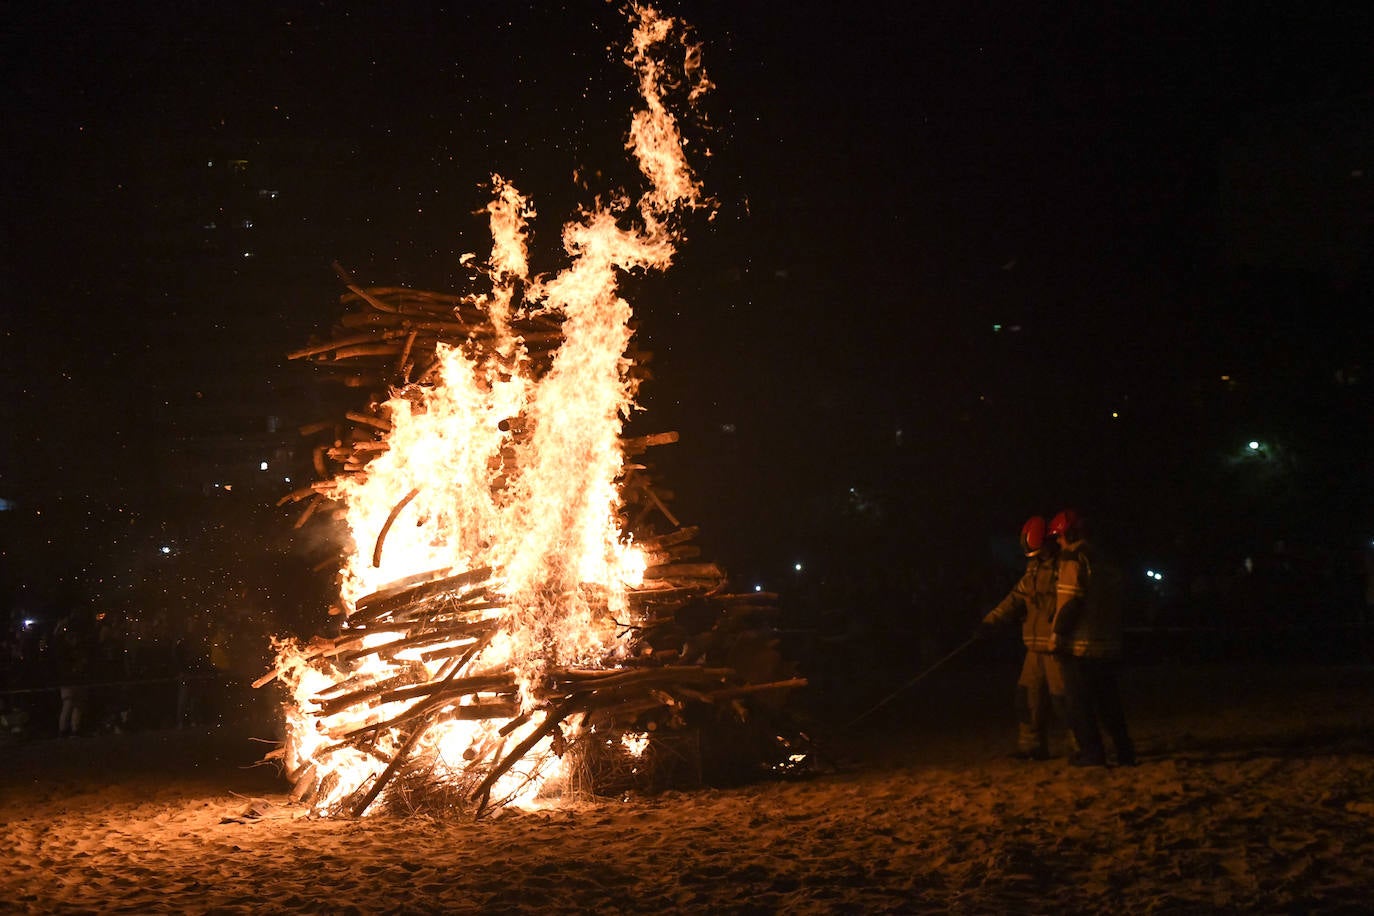
[[1121,574],[1090,544],[1074,509],[1050,522],[1059,544],[1051,650],[1062,659],[1069,726],[1079,751],[1074,766],[1106,766],[1102,735],[1118,766],[1135,766],[1135,744],[1121,709],[1117,663],[1121,658]]

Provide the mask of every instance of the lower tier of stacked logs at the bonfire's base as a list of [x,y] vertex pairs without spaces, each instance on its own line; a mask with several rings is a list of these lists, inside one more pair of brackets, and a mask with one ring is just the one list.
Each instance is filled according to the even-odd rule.
[[[697,569],[690,575],[668,569],[664,578],[650,580],[631,596],[631,615],[640,622],[627,623],[622,633],[628,661],[609,669],[547,670],[536,685],[533,707],[522,710],[513,670],[467,670],[503,622],[504,604],[488,588],[491,575],[491,569],[436,570],[392,584],[357,602],[344,634],[306,647],[309,659],[334,662],[339,670],[387,672],[339,680],[313,698],[322,717],[349,713],[339,720],[348,725],[324,733],[331,743],[316,758],[352,747],[386,765],[381,776],[341,799],[337,812],[367,812],[398,780],[404,786],[396,799],[442,791],[445,803],[459,802],[481,816],[508,801],[493,799],[493,787],[545,739],[563,754],[576,750],[574,736],[591,740],[592,735],[682,729],[692,705],[747,718],[743,702],[749,698],[805,684],[798,677],[776,677],[780,658],[761,639],[776,612],[774,596],[728,593],[702,582]],[[390,641],[375,645],[371,637],[376,634]],[[745,634],[752,639],[741,639]],[[415,661],[403,662],[401,652]],[[684,658],[687,652],[692,658]],[[357,665],[367,656],[387,665]],[[730,665],[732,659],[745,659],[747,667]],[[430,674],[431,666],[423,662],[436,661],[442,663]],[[507,736],[536,717],[539,726],[508,746]],[[484,744],[467,748],[460,768],[452,761],[412,759],[426,732],[455,720],[506,722]],[[289,773],[293,798],[306,805],[334,788],[315,762],[302,761]],[[518,781],[508,792],[515,794]]]

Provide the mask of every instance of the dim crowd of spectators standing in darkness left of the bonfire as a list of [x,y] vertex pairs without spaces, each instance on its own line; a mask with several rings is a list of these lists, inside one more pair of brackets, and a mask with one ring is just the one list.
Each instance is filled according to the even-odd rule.
[[269,629],[249,610],[16,612],[0,633],[0,733],[66,737],[269,715],[272,696],[251,689],[271,663]]

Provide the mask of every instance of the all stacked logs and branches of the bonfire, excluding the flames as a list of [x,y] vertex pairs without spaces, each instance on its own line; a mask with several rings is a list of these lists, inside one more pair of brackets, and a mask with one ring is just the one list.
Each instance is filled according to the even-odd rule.
[[[354,310],[345,314],[331,341],[290,356],[328,368],[349,386],[381,394],[386,387],[425,385],[438,343],[481,346],[496,336],[488,316],[462,297],[361,288],[344,276],[349,293],[342,301]],[[558,320],[522,317],[511,325],[523,336],[536,372],[547,367],[561,341]],[[647,358],[631,358],[643,375],[640,360]],[[383,398],[374,396],[376,400]],[[508,423],[518,434],[519,419]],[[282,500],[308,500],[298,527],[330,501],[339,477],[364,472],[386,449],[389,428],[383,417],[359,409],[342,422],[301,430],[305,435],[326,434],[327,441],[315,446],[320,479]],[[305,647],[308,661],[330,663],[334,670],[387,672],[381,677],[345,676],[313,698],[324,717],[350,713],[337,720],[350,722],[348,726],[326,735],[333,742],[326,750],[352,747],[385,764],[378,777],[333,805],[331,813],[361,814],[392,786],[387,798],[393,801],[433,795],[434,787],[441,787],[445,803],[458,801],[481,816],[518,794],[514,790],[507,798],[492,798],[497,781],[513,769],[519,772],[523,758],[545,740],[562,754],[570,742],[584,740],[576,736],[680,729],[692,707],[746,720],[752,699],[767,695],[776,703],[790,688],[805,684],[778,651],[776,596],[732,593],[719,566],[692,562],[699,558],[692,544],[698,529],[673,516],[668,507],[672,494],[654,486],[647,466],[633,463],[649,448],[676,441],[676,433],[622,441],[624,520],[650,566],[643,585],[629,595],[628,619],[616,621],[627,650],[617,667],[545,670],[534,687],[533,706],[521,700],[515,672],[470,670],[504,625],[504,596],[492,588],[491,569],[434,570],[392,582],[356,602],[342,634],[317,637]],[[415,494],[407,494],[390,519]],[[389,526],[390,520],[374,545],[374,563]],[[363,665],[368,656],[386,665]],[[269,673],[254,687],[275,677],[276,672]],[[507,721],[482,746],[463,753],[456,777],[452,762],[444,762],[444,776],[437,779],[438,762],[414,751],[430,729],[452,720]],[[508,746],[507,737],[530,721],[539,725]],[[319,758],[301,761],[289,773],[293,797],[312,806],[315,799],[330,798],[334,788],[330,776],[317,772]]]

